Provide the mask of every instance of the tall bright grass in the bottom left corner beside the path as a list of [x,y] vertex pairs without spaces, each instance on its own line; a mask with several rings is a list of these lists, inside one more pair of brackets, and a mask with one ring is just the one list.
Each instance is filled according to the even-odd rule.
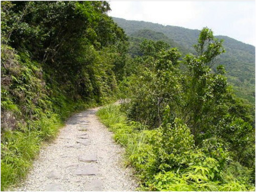
[[18,183],[26,176],[42,141],[53,139],[62,125],[60,118],[53,115],[30,123],[28,129],[7,131],[2,135],[1,190]]

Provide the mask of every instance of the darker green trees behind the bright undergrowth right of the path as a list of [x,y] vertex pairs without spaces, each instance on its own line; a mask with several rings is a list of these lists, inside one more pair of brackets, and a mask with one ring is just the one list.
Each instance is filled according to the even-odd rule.
[[[218,54],[224,52],[222,41],[207,28],[198,41],[198,56],[187,55],[183,60],[177,49],[161,48],[161,41],[144,41],[144,55],[135,59],[137,71],[125,82],[130,100],[123,110],[133,121],[156,129],[163,123],[165,107],[169,106],[168,123],[181,119],[194,135],[196,146],[218,136],[226,143],[225,149],[232,152],[232,158],[252,166],[254,137],[249,106],[233,96],[224,67],[219,65],[215,73],[211,68]],[[186,71],[179,69],[180,63],[187,66]]]

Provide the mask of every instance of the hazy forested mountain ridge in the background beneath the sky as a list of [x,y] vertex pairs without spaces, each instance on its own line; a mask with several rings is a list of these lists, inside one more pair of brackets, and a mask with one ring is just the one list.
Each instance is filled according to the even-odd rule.
[[[112,18],[130,37],[132,55],[136,54],[136,49],[138,49],[142,39],[162,40],[170,44],[171,47],[178,47],[183,54],[195,53],[193,45],[197,43],[200,30]],[[238,97],[254,104],[255,47],[227,36],[217,35],[215,37],[224,40],[223,46],[226,50],[216,61],[216,66],[224,65],[227,70],[228,81]]]

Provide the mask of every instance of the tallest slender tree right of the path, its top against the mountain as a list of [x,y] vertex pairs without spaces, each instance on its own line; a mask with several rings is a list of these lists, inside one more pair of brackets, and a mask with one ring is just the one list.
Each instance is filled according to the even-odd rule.
[[195,49],[197,56],[187,55],[184,58],[188,71],[184,78],[186,101],[183,119],[199,142],[209,137],[208,129],[225,114],[230,93],[223,66],[217,67],[217,73],[211,70],[216,57],[224,52],[222,40],[215,39],[211,30],[203,28]]

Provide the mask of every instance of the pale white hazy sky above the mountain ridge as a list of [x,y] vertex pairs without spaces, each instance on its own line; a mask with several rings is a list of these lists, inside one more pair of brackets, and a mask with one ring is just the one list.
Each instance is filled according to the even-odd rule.
[[255,46],[254,1],[110,1],[110,16],[226,35]]

